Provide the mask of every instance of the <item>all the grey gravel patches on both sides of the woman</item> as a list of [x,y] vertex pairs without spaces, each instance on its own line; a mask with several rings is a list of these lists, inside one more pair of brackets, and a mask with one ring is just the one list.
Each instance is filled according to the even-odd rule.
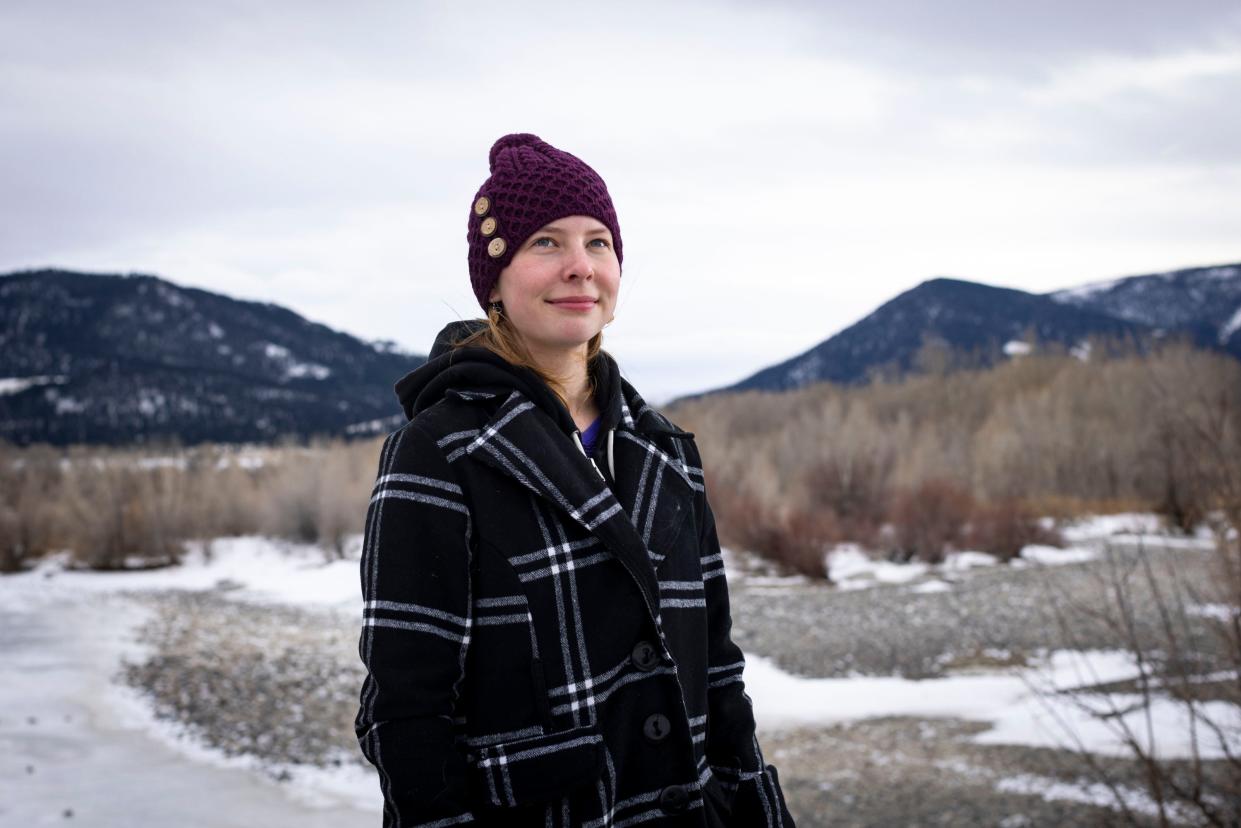
[[[972,570],[937,592],[910,586],[848,592],[740,578],[732,587],[733,634],[746,652],[808,677],[926,678],[1023,664],[1064,647],[1066,637],[1078,647],[1118,648],[1121,633],[1087,611],[1100,606],[1109,578],[1134,571],[1132,550],[1113,551],[1114,557],[1057,567]],[[1174,565],[1176,578],[1196,581],[1210,556],[1176,550],[1154,559]],[[1139,581],[1129,583],[1138,627],[1155,634],[1158,606]],[[247,603],[227,588],[132,598],[151,610],[139,632],[149,657],[127,662],[120,679],[146,694],[158,716],[226,755],[258,757],[277,776],[289,763],[365,765],[352,736],[364,673],[351,613]],[[1047,785],[1082,788],[1090,768],[1081,757],[977,745],[969,736],[979,727],[985,725],[889,718],[761,739],[804,826],[1118,821],[1106,792],[1096,791],[1096,801],[1045,796]],[[1137,794],[1137,768],[1111,765]],[[1010,780],[1029,783],[1023,788]]]

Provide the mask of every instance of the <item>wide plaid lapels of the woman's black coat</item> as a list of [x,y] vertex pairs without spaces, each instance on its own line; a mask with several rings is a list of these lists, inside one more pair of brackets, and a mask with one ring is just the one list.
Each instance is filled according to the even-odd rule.
[[[628,382],[620,382],[623,387],[616,395],[619,410],[613,438],[614,488],[604,483],[572,437],[520,390],[509,394],[463,451],[557,506],[594,535],[637,582],[658,627],[655,561],[684,528],[688,515],[679,514],[685,503],[684,489],[701,489],[701,478],[695,478],[701,472],[685,463],[684,452],[669,454],[653,438],[655,433],[681,438],[692,434],[660,417]],[[668,487],[683,490],[670,493]],[[680,519],[670,520],[668,509],[674,509]]]

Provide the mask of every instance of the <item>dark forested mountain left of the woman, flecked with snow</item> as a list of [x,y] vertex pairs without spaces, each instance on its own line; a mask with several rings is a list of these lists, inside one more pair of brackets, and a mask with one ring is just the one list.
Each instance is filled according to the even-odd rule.
[[382,433],[423,361],[154,276],[0,276],[0,438],[19,444]]

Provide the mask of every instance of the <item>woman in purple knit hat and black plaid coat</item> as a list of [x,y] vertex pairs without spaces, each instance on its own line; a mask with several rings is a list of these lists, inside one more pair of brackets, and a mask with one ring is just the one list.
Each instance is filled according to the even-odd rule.
[[792,826],[755,739],[692,434],[599,349],[603,180],[505,135],[474,196],[486,319],[396,385],[366,519],[356,730],[385,826]]

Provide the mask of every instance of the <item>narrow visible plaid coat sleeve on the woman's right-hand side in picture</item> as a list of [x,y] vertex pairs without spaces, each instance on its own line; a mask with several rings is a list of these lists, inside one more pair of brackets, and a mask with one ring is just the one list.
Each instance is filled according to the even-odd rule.
[[[692,459],[697,459],[696,449]],[[763,760],[755,735],[753,705],[742,680],[746,659],[731,636],[728,585],[706,492],[700,506],[699,549],[707,607],[707,761],[725,786],[736,787],[730,826],[793,828],[776,767]]]

